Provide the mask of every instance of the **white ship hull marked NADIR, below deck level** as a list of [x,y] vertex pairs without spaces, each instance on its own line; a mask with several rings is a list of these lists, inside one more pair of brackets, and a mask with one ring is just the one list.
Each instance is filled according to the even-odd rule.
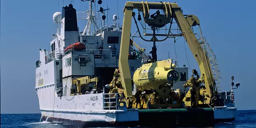
[[[45,88],[38,90],[43,120],[50,116],[49,121],[81,127],[132,126],[140,122],[138,109],[108,110],[108,107],[104,107],[103,93],[65,97],[49,95],[48,99],[45,99],[46,94],[50,92],[55,92],[54,85],[46,85]],[[236,107],[211,109],[214,111],[214,122],[235,120]]]

